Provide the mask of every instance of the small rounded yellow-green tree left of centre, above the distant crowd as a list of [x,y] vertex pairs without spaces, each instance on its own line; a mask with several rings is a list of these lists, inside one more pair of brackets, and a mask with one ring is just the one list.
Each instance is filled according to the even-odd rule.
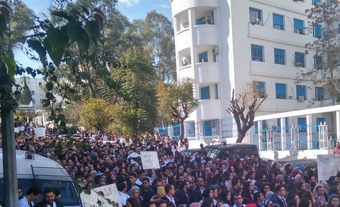
[[80,123],[89,129],[103,131],[109,124],[107,107],[109,103],[102,98],[89,98],[80,106]]

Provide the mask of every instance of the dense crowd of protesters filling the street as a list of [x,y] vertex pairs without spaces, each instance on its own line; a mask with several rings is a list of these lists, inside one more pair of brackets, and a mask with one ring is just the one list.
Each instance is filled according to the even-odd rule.
[[[297,171],[290,164],[280,169],[257,154],[236,158],[228,150],[216,160],[205,151],[188,158],[180,152],[188,148],[181,137],[146,133],[131,143],[113,143],[102,139],[118,137],[80,134],[91,143],[88,149],[69,149],[64,142],[57,155],[49,147],[53,136],[25,135],[17,138],[17,149],[55,160],[84,189],[116,184],[123,207],[340,207],[340,174],[319,181],[312,170]],[[140,157],[130,156],[140,151],[157,151],[160,169],[144,170]]]

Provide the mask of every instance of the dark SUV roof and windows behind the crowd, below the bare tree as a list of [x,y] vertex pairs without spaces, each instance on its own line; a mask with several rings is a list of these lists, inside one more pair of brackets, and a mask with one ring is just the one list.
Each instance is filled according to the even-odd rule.
[[[220,144],[214,144],[220,143]],[[226,142],[214,142],[210,146],[205,146],[202,151],[207,152],[207,156],[216,160],[222,158],[224,152],[229,150],[229,153],[236,158],[241,158],[243,155],[257,154],[260,155],[255,144],[245,144],[245,143],[226,143]],[[190,157],[195,156],[191,153]]]

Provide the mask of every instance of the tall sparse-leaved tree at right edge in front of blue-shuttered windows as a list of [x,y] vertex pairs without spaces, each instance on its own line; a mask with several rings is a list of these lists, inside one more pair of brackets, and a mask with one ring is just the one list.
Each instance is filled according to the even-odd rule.
[[[324,2],[306,10],[309,19],[306,33],[312,33],[317,37],[305,46],[306,54],[313,54],[314,65],[312,68],[300,68],[295,81],[297,84],[310,82],[314,86],[322,86],[324,91],[329,93],[333,106],[340,94],[339,5],[339,1],[330,0],[329,3]],[[312,89],[311,86],[308,88]],[[311,104],[324,99],[324,92],[316,93],[322,94],[316,94]],[[331,113],[331,119],[334,129],[335,112]]]

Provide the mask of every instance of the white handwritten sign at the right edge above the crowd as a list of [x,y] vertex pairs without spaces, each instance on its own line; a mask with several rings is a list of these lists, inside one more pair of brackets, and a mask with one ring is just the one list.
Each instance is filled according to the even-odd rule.
[[317,159],[319,180],[329,180],[331,176],[336,176],[338,174],[340,165],[340,154],[317,155]]

